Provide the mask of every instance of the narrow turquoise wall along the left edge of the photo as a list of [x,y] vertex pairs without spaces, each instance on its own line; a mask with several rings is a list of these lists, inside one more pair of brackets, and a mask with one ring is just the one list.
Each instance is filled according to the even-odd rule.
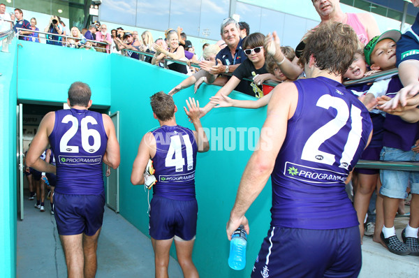
[[[1,45],[1,41],[0,41]],[[16,42],[0,52],[0,270],[16,276]],[[4,275],[4,276],[3,276]]]

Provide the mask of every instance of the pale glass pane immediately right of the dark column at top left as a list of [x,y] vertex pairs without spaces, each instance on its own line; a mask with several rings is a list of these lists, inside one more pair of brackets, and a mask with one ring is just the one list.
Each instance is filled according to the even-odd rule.
[[102,21],[135,26],[135,0],[107,0],[101,4]]

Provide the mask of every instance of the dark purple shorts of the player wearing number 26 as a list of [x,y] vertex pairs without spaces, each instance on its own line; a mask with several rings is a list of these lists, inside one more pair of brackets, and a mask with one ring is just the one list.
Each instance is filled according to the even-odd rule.
[[54,193],[54,217],[59,235],[94,235],[103,224],[105,193],[72,195]]

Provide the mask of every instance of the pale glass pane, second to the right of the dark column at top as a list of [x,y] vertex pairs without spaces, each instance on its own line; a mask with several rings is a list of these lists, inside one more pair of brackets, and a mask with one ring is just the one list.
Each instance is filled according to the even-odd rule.
[[164,31],[169,28],[169,9],[170,0],[137,0],[135,26]]

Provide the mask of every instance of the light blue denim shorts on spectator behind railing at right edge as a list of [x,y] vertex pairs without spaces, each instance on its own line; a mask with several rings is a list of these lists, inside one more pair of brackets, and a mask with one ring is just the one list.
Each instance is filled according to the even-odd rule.
[[[404,152],[394,147],[383,147],[380,154],[382,161],[419,161],[416,152]],[[380,170],[380,179],[383,184],[380,193],[388,198],[407,198],[406,188],[411,184],[411,193],[419,193],[419,173],[397,170]]]

